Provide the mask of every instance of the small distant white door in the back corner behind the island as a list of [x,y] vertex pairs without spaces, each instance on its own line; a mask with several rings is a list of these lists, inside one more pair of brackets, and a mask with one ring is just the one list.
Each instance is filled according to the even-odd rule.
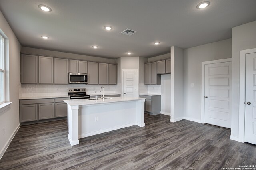
[[123,71],[123,96],[137,97],[136,71]]

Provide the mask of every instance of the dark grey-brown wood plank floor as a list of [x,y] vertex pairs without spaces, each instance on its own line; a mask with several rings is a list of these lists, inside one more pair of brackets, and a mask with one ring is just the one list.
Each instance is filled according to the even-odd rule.
[[169,119],[145,114],[145,127],[82,138],[75,146],[68,141],[66,120],[24,125],[0,169],[219,170],[256,165],[256,146],[230,140],[230,130]]

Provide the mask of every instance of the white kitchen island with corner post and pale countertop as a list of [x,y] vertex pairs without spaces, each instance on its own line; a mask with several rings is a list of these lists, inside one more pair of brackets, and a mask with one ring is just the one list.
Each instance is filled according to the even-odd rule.
[[143,98],[64,100],[68,104],[68,140],[79,144],[80,138],[133,125],[144,127]]

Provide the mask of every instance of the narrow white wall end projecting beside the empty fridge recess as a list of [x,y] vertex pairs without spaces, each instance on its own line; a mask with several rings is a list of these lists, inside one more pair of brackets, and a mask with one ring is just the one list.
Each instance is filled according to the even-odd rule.
[[171,122],[183,119],[183,49],[171,47]]

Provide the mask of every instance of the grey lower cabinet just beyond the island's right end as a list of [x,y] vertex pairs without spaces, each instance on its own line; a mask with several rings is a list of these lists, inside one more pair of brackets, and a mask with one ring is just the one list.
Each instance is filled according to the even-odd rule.
[[158,115],[161,112],[161,95],[140,95],[145,98],[145,113],[150,115]]

